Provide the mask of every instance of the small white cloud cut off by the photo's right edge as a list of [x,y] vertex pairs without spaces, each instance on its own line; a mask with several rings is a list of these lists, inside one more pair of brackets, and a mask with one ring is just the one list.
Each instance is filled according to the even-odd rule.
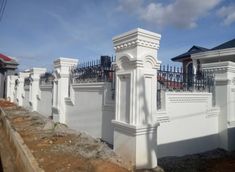
[[223,18],[225,25],[230,25],[235,22],[235,4],[229,6],[223,6],[218,11],[219,17]]

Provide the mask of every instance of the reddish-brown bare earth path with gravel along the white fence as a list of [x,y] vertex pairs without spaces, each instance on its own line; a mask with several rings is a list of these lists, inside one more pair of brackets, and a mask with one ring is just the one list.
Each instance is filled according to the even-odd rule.
[[[72,131],[63,124],[53,123],[38,113],[16,106],[5,106],[4,110],[12,127],[20,133],[39,166],[45,171],[128,171],[127,163],[98,139]],[[0,133],[0,136],[4,144],[4,135]],[[10,167],[5,162],[4,165]]]

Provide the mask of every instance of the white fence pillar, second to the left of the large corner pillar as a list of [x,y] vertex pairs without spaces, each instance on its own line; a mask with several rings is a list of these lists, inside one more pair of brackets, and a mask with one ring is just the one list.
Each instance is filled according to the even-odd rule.
[[32,111],[37,111],[37,95],[39,93],[40,75],[46,72],[45,68],[32,68],[30,70],[30,88],[29,88],[29,103]]

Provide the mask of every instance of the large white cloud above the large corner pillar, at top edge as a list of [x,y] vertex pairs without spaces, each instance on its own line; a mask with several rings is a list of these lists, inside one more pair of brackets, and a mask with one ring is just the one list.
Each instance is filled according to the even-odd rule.
[[199,18],[214,9],[221,0],[175,0],[170,4],[148,3],[143,0],[120,0],[118,9],[132,11],[144,21],[159,27],[193,28]]

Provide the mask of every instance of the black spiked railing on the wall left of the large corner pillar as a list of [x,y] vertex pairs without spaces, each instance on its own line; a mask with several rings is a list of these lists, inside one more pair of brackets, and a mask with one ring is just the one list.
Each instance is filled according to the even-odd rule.
[[112,82],[114,80],[113,61],[113,57],[101,56],[100,60],[80,64],[71,70],[71,82]]

